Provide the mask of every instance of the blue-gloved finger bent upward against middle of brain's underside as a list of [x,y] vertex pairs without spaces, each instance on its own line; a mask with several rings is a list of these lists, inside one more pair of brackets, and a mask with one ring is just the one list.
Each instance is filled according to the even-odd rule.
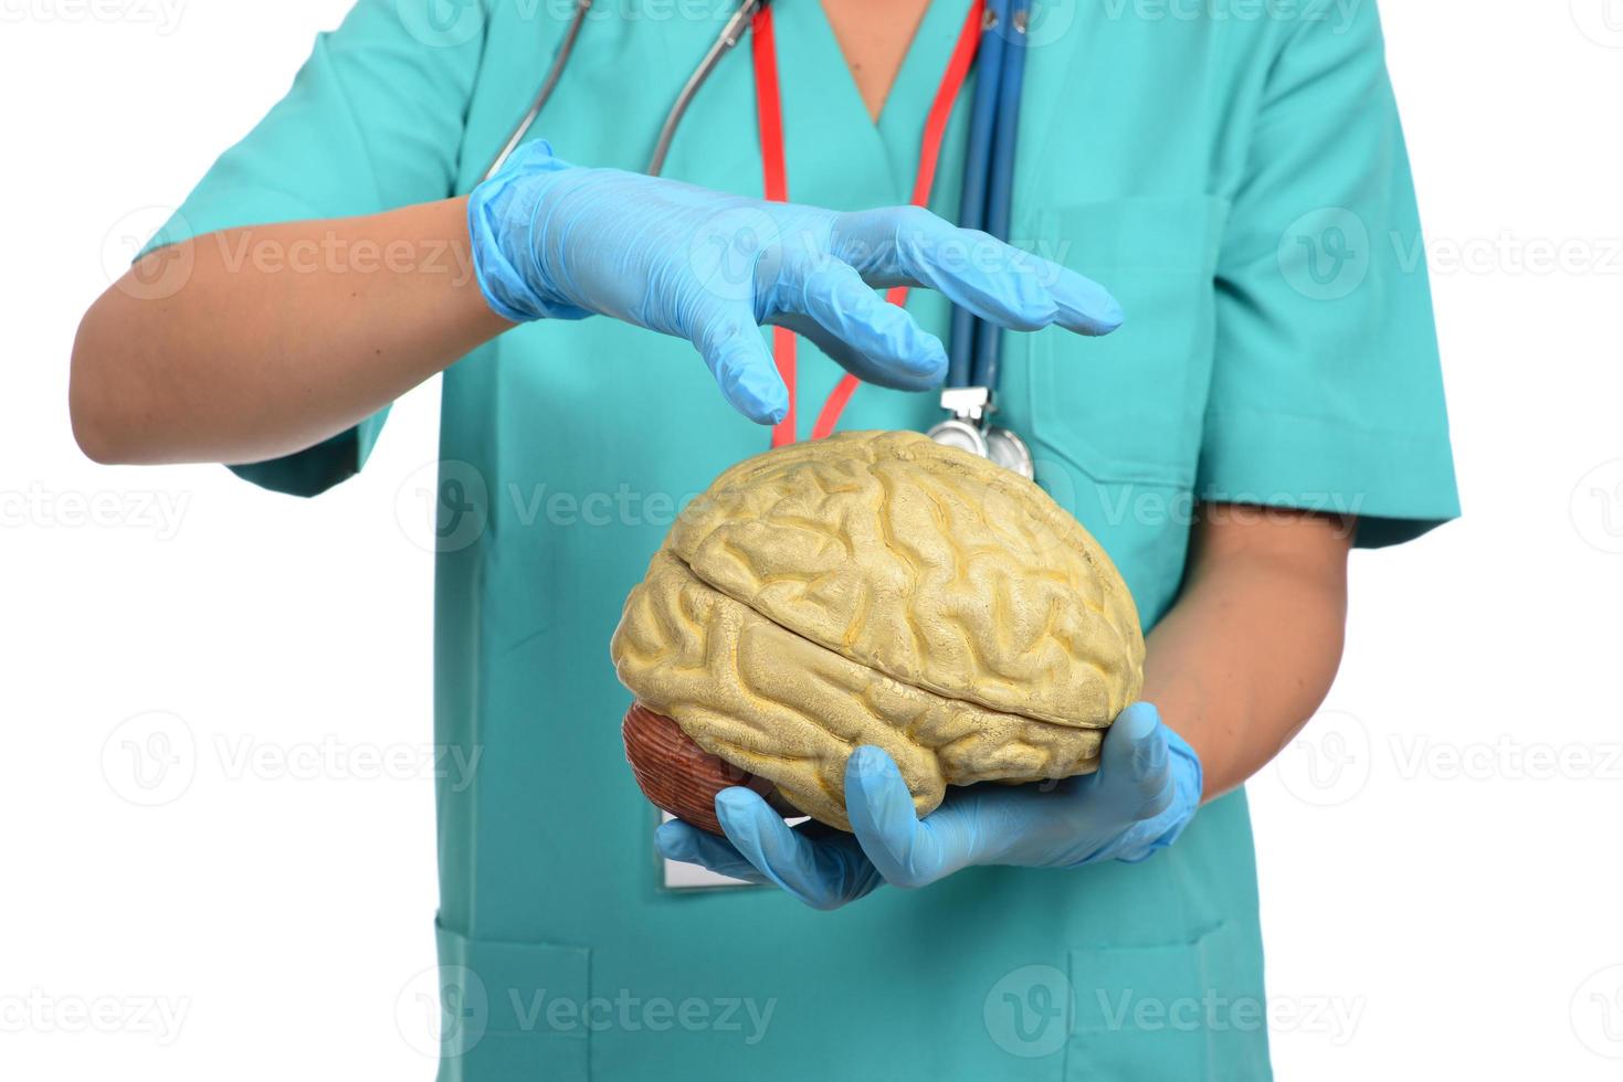
[[894,759],[872,745],[846,761],[846,814],[862,852],[891,886],[928,886],[971,863],[971,847],[961,842],[972,834],[938,829],[935,816],[920,821]]

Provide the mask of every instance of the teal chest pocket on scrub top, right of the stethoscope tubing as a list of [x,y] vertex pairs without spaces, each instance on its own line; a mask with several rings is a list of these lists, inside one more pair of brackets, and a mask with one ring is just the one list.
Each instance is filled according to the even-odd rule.
[[1045,251],[1109,289],[1120,331],[1031,346],[1032,435],[1096,482],[1188,490],[1211,384],[1214,274],[1227,203],[1123,198],[1039,213]]

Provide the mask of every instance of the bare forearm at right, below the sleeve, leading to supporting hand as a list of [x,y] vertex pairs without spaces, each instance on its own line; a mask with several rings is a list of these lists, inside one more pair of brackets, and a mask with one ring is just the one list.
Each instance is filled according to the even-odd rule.
[[1329,691],[1350,524],[1237,506],[1204,519],[1183,594],[1149,636],[1144,698],[1199,754],[1211,800],[1266,766]]

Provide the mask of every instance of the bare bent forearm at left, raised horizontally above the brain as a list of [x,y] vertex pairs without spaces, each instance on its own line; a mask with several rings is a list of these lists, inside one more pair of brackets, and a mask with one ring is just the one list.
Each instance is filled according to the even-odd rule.
[[464,200],[222,230],[146,256],[84,315],[75,435],[99,461],[276,457],[510,326],[474,279]]

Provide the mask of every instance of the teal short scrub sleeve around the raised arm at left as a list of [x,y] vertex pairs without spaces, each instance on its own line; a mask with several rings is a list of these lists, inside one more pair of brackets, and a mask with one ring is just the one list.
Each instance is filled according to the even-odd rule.
[[[404,19],[409,6],[360,0],[339,29],[321,34],[287,96],[214,162],[146,250],[221,229],[450,198],[484,34],[474,6],[456,5],[466,19],[445,26]],[[313,496],[365,464],[386,414],[297,454],[232,469]]]

